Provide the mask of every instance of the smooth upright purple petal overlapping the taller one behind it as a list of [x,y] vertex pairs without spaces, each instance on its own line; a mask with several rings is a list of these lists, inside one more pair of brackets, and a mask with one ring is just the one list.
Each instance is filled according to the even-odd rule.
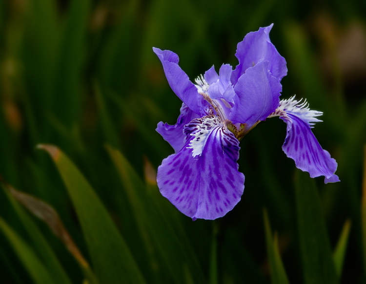
[[246,70],[234,90],[234,107],[230,120],[233,123],[246,123],[251,127],[258,120],[274,112],[280,102],[281,83],[268,71],[268,61],[261,61]]

